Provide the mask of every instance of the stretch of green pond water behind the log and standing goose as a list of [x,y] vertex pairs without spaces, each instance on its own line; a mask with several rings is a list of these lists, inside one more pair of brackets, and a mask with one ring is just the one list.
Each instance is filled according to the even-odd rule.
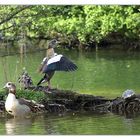
[[[56,72],[52,79],[53,87],[71,89],[81,93],[116,97],[126,89],[140,92],[140,55],[139,52],[76,52],[57,50],[72,59],[78,71]],[[22,68],[26,67],[34,84],[40,80],[37,68],[46,51],[0,57],[0,85],[8,81],[17,82]]]

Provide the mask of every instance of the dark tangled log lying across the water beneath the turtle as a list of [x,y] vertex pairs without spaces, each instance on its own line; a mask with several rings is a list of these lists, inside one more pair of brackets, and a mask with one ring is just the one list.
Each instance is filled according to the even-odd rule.
[[[120,115],[140,113],[140,95],[124,99],[117,97],[107,99],[102,96],[80,94],[70,90],[51,89],[48,87],[28,87],[25,90],[44,92],[45,97],[41,104],[47,112],[64,113],[67,111],[90,111],[96,113],[113,112]],[[4,111],[4,98],[0,96],[0,110]]]

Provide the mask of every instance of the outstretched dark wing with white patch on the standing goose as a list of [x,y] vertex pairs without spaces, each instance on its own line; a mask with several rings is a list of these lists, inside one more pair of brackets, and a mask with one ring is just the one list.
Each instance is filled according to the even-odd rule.
[[78,67],[71,60],[60,54],[49,59],[47,64],[44,65],[42,72],[75,71],[77,68]]

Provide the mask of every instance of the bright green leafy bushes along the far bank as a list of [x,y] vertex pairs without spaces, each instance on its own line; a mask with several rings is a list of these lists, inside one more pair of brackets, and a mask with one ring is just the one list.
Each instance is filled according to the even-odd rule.
[[140,48],[137,5],[1,6],[0,11],[1,47],[20,47],[20,53],[46,48],[53,38],[67,49]]

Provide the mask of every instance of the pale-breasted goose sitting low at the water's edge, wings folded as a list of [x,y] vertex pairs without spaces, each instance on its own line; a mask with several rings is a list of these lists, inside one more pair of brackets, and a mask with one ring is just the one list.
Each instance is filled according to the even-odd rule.
[[26,100],[24,98],[16,98],[16,86],[12,82],[8,82],[4,88],[9,90],[5,109],[6,111],[14,117],[26,117],[31,112],[37,112],[44,109],[44,106],[37,104],[34,101]]

